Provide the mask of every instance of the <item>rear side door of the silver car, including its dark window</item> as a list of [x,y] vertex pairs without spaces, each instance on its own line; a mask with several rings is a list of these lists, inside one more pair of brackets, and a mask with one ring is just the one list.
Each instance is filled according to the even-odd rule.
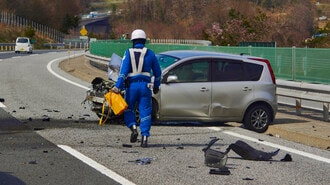
[[213,64],[211,117],[237,120],[243,116],[249,101],[254,99],[255,82],[244,80],[240,60],[219,59]]

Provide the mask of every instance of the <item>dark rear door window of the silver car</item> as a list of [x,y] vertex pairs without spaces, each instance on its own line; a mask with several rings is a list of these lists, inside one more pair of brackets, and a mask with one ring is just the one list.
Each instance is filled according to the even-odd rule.
[[215,62],[214,81],[244,81],[243,62],[239,60],[217,60]]

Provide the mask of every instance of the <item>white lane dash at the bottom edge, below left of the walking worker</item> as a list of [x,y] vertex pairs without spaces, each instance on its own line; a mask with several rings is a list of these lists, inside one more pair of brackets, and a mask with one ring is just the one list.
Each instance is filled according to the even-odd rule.
[[111,179],[117,181],[118,183],[125,184],[125,185],[133,185],[134,183],[125,179],[124,177],[120,176],[116,172],[106,168],[105,166],[97,163],[93,159],[83,155],[82,153],[78,152],[77,150],[66,146],[66,145],[57,145],[62,150],[68,152],[72,156],[76,157],[77,159],[81,160],[82,162],[86,163],[87,165],[93,167],[97,171],[101,172],[102,174],[106,175],[107,177],[110,177]]

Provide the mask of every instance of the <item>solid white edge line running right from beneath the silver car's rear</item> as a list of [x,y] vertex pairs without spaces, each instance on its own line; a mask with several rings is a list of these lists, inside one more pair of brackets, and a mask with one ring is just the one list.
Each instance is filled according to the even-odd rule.
[[[215,130],[214,127],[209,127],[209,129]],[[231,132],[231,131],[223,131],[223,133],[234,136],[234,137],[239,137],[239,138],[242,138],[242,139],[245,139],[245,140],[253,141],[253,142],[256,142],[256,143],[260,143],[260,144],[263,144],[263,145],[278,148],[278,149],[281,149],[281,150],[284,150],[284,151],[287,151],[287,152],[295,153],[297,155],[301,155],[301,156],[304,156],[304,157],[315,159],[315,160],[318,160],[318,161],[321,161],[321,162],[330,163],[330,159],[325,158],[325,157],[321,157],[321,156],[318,156],[318,155],[315,155],[315,154],[303,152],[303,151],[300,151],[300,150],[297,150],[297,149],[293,149],[293,148],[289,148],[289,147],[286,147],[286,146],[270,143],[270,142],[267,142],[267,141],[259,141],[256,138],[245,136],[245,135],[238,134],[238,133]]]

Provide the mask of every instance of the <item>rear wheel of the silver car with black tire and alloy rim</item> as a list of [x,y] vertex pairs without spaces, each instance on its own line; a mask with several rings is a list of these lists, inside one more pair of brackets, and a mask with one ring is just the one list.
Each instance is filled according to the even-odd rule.
[[243,124],[249,130],[263,133],[268,129],[271,120],[270,109],[265,105],[256,105],[247,110]]

